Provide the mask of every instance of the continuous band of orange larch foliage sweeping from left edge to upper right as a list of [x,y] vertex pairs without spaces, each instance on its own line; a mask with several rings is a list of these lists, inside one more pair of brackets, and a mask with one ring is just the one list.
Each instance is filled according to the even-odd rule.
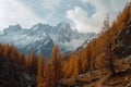
[[[81,51],[63,55],[58,45],[52,49],[49,60],[35,53],[24,55],[13,46],[0,44],[0,57],[17,62],[37,74],[37,87],[57,87],[63,78],[76,78],[79,74],[94,70],[114,70],[118,59],[114,49],[120,46],[118,35],[131,24],[131,3],[128,3],[112,25],[93,39]],[[105,26],[104,26],[105,27]],[[110,70],[110,67],[112,70]]]

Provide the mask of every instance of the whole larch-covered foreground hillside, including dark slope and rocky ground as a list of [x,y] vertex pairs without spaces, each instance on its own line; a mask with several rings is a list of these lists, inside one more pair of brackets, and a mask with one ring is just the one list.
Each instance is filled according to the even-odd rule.
[[[50,59],[0,44],[0,87],[131,87],[131,2],[82,50]],[[14,83],[14,84],[12,84]]]

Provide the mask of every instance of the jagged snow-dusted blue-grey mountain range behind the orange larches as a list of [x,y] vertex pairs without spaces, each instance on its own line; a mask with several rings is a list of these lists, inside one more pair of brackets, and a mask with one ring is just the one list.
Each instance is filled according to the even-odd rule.
[[57,26],[38,23],[31,28],[22,28],[21,25],[10,25],[0,35],[0,42],[14,45],[25,54],[35,52],[44,53],[49,58],[53,45],[58,44],[63,53],[75,50],[88,39],[96,37],[94,33],[79,33],[72,29],[66,22]]

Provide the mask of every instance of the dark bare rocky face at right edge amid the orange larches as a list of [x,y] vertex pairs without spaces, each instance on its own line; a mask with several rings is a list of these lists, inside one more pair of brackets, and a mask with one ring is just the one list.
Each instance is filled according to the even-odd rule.
[[131,54],[131,24],[128,25],[118,36],[118,48],[116,53],[119,58]]

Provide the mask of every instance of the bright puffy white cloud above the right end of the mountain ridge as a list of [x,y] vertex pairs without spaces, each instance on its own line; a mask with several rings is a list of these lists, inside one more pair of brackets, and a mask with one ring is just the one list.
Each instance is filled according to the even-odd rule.
[[79,32],[97,32],[99,24],[93,18],[87,17],[87,13],[80,7],[75,7],[73,10],[66,12],[67,17],[74,22],[75,28]]

